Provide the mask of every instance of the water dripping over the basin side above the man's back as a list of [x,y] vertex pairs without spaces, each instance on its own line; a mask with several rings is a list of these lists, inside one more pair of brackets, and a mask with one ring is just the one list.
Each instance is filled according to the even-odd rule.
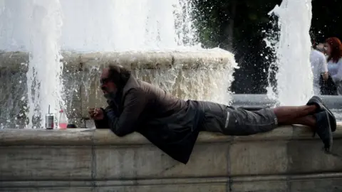
[[[202,50],[203,51],[203,50]],[[214,48],[205,50],[204,54],[226,50]],[[197,50],[197,53],[201,53]],[[204,63],[198,68],[184,68],[185,63],[175,62],[172,68],[162,70],[135,70],[135,77],[151,82],[163,90],[183,100],[204,100],[230,105],[232,92],[229,90],[234,80],[234,68],[237,68],[234,55],[231,54],[227,63]]]

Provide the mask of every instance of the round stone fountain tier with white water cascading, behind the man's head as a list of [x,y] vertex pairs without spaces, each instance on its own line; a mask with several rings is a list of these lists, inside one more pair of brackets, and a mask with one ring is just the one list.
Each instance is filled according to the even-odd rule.
[[230,101],[234,56],[197,48],[187,1],[1,2],[1,78],[12,85],[0,88],[1,127],[42,127],[48,105],[80,127],[88,107],[105,105],[98,75],[109,63],[184,99]]

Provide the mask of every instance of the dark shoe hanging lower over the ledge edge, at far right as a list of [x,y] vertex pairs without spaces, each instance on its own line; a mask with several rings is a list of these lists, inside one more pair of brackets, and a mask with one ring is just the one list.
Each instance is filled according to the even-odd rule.
[[321,138],[325,151],[330,151],[333,146],[333,133],[331,131],[331,124],[328,112],[318,112],[314,114],[316,117],[317,127],[314,132]]

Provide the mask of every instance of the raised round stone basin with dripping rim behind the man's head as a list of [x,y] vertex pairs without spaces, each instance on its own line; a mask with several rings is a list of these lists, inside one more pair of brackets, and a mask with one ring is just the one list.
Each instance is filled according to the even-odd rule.
[[[133,71],[136,78],[151,82],[182,99],[229,102],[229,87],[236,63],[234,55],[219,48],[196,51],[63,52],[63,82],[68,118],[82,126],[88,107],[105,107],[99,75],[109,64]],[[6,122],[25,119],[28,53],[0,52],[0,111]],[[46,64],[48,65],[48,63]],[[46,74],[48,75],[48,74]],[[20,82],[20,83],[19,83]],[[24,124],[24,122],[21,122]],[[6,127],[14,127],[8,124]]]

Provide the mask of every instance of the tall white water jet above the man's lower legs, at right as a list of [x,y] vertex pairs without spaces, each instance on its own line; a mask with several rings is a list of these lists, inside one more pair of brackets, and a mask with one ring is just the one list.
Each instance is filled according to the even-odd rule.
[[[304,105],[313,94],[309,61],[311,0],[283,0],[270,14],[279,17],[279,42],[275,46],[279,105]],[[272,95],[272,90],[268,90]]]

